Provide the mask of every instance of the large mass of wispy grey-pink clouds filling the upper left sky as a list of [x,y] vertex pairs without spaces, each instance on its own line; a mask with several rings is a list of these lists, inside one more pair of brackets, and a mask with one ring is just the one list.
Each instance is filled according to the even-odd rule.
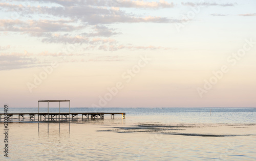
[[[31,0],[28,2],[31,4],[37,1]],[[52,5],[47,5],[48,3],[51,3]],[[181,22],[179,19],[171,19],[161,16],[141,16],[127,13],[120,8],[160,9],[172,7],[174,7],[173,3],[168,3],[164,0],[160,0],[159,2],[131,0],[42,0],[38,6],[33,6],[33,4],[17,5],[11,1],[10,3],[0,3],[0,8],[6,12],[17,12],[23,17],[29,16],[31,18],[30,20],[1,19],[0,31],[28,34],[29,36],[37,37],[43,43],[79,43],[87,44],[84,48],[91,47],[91,49],[103,50],[106,50],[105,48],[110,48],[108,50],[113,51],[120,47],[116,47],[117,41],[111,37],[121,34],[121,32],[109,28],[108,24]],[[38,20],[38,18],[36,18],[38,15],[44,15],[44,17],[48,18]],[[36,18],[36,20],[33,20],[33,18]],[[49,18],[51,20],[49,20]],[[110,47],[110,45],[114,45],[115,47]]]

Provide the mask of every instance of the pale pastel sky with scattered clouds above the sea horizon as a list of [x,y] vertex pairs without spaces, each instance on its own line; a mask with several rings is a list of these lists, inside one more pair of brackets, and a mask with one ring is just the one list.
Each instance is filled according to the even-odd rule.
[[0,1],[1,104],[255,108],[255,7],[253,0]]

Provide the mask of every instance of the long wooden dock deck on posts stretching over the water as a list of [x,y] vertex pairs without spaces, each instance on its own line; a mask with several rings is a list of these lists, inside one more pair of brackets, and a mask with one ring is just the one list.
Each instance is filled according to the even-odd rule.
[[[3,116],[2,116],[3,115]],[[125,113],[0,113],[0,119],[8,118],[8,120],[12,119],[12,117],[16,115],[18,116],[18,120],[22,118],[22,120],[25,119],[25,115],[29,116],[29,119],[32,121],[37,120],[38,121],[50,121],[53,119],[63,120],[63,119],[74,119],[75,117],[78,118],[78,115],[83,116],[86,119],[104,119],[104,115],[110,115],[111,119],[115,119],[115,115],[122,115],[122,119],[125,119]],[[43,119],[43,120],[42,120]]]

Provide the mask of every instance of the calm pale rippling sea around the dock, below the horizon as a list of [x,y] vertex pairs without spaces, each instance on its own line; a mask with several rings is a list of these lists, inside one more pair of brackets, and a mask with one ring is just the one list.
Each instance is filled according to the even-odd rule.
[[[38,108],[8,109],[8,113],[37,112]],[[59,108],[49,112],[58,113]],[[2,115],[0,160],[256,160],[256,108],[70,108],[70,112],[125,113],[125,119],[105,114],[104,119],[78,115],[38,121],[37,116],[18,120],[14,115],[6,122]]]

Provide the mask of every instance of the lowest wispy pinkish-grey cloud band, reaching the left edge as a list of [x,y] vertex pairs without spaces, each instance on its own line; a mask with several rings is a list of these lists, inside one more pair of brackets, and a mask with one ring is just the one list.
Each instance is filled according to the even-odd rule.
[[[39,54],[29,53],[26,50],[22,52],[0,53],[0,70],[12,70],[31,67],[41,67],[51,64],[51,58],[54,57],[59,63],[76,62],[98,62],[98,61],[124,61],[120,56],[89,57],[88,53],[52,53],[43,51]],[[64,58],[65,59],[62,59]]]

